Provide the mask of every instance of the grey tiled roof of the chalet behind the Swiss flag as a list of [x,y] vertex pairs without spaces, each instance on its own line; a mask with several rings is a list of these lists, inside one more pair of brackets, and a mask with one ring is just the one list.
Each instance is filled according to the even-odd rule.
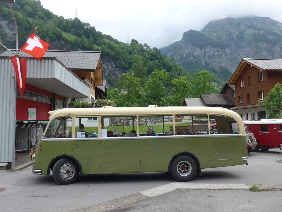
[[[16,50],[11,50],[16,53]],[[0,56],[14,56],[5,51]],[[69,69],[93,69],[96,70],[100,59],[100,51],[54,51],[48,50],[43,57],[56,57]],[[28,53],[20,52],[19,57],[30,57]]]

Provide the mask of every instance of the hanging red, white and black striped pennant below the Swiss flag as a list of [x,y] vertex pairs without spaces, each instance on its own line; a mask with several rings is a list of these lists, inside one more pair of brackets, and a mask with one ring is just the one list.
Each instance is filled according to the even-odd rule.
[[23,96],[23,92],[25,91],[25,81],[27,77],[27,59],[11,57],[11,60],[16,72],[19,93],[21,94],[21,96]]

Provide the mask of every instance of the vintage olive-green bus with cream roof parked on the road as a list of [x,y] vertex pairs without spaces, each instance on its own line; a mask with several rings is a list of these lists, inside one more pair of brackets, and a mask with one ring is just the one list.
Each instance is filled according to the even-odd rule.
[[[248,161],[243,121],[225,108],[103,106],[59,109],[49,115],[32,173],[52,171],[62,185],[73,183],[79,174],[140,172],[170,172],[178,181],[190,181],[202,168]],[[88,137],[92,131],[97,137]],[[124,137],[124,131],[134,134]]]

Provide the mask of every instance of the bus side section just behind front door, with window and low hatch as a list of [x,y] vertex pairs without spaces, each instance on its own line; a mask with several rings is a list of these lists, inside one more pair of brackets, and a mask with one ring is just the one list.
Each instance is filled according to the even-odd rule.
[[136,129],[136,116],[101,118],[100,161],[101,174],[138,172],[138,137],[134,133],[122,137]]

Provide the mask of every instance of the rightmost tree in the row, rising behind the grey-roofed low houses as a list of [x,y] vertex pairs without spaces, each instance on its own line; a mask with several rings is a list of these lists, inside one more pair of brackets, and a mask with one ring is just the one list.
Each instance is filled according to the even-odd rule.
[[197,72],[193,75],[191,83],[194,85],[192,88],[193,98],[199,98],[201,94],[207,94],[213,90],[211,81],[213,80],[213,75],[208,73],[206,70]]

